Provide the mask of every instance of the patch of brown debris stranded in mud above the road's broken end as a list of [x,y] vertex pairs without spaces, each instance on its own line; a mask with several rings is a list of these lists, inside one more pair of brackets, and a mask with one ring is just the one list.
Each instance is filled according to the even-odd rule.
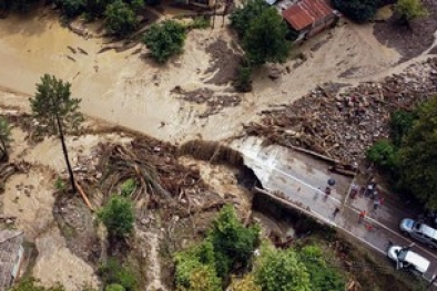
[[179,98],[199,105],[206,105],[205,110],[197,115],[199,118],[206,118],[220,113],[223,108],[238,106],[242,97],[232,93],[215,93],[211,89],[197,89],[185,91],[181,86],[175,86],[172,93]]

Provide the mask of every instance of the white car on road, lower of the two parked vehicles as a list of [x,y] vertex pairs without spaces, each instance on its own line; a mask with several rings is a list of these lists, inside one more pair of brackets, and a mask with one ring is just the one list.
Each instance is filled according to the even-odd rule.
[[423,276],[429,268],[430,262],[420,254],[410,250],[410,247],[390,246],[387,256],[396,262],[396,269],[408,269]]

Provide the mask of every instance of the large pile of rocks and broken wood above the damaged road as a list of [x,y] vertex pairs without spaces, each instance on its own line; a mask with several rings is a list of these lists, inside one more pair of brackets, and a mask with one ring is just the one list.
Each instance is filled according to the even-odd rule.
[[364,158],[375,141],[388,136],[392,112],[411,110],[436,94],[437,59],[410,65],[383,82],[335,91],[318,86],[292,104],[263,111],[261,123],[245,125],[245,133],[350,165]]

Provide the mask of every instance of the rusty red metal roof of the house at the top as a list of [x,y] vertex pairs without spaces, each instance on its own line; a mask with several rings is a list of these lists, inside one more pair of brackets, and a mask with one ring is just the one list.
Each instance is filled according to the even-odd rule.
[[333,13],[324,0],[302,0],[284,10],[282,17],[298,31]]

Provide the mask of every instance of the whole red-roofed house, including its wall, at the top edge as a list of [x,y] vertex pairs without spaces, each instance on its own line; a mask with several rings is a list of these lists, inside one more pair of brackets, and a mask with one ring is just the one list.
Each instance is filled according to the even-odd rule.
[[325,0],[302,0],[282,11],[282,17],[296,33],[295,42],[334,25],[339,15]]

